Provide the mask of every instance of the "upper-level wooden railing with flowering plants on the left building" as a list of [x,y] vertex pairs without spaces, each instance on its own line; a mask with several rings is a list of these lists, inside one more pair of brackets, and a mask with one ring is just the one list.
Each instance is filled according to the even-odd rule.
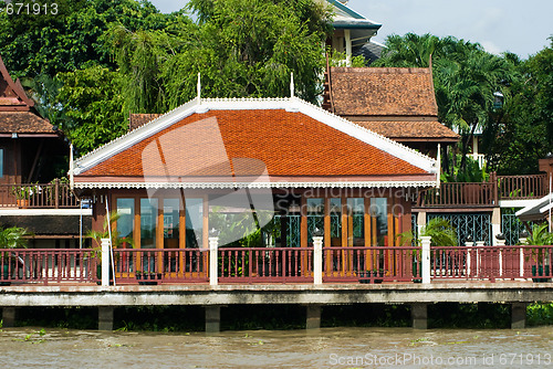
[[0,208],[79,208],[79,200],[69,183],[55,179],[50,183],[0,184]]

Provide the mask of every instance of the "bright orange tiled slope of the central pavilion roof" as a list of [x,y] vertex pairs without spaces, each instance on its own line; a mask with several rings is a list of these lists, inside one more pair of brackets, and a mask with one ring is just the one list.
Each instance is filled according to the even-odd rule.
[[[228,156],[212,145],[219,137]],[[271,177],[428,175],[303,113],[279,108],[192,114],[79,177],[259,172],[259,161],[243,158],[260,160]],[[231,167],[228,160],[233,160]]]

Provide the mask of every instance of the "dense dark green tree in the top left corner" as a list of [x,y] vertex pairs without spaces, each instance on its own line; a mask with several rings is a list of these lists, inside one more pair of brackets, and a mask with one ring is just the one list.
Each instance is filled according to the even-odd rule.
[[[0,0],[0,2],[2,2]],[[18,3],[34,3],[21,0]],[[129,30],[160,29],[171,20],[148,1],[45,0],[58,12],[48,14],[0,13],[0,54],[17,77],[35,77],[97,64],[114,67],[101,36],[113,22]],[[41,11],[44,8],[42,8]],[[53,9],[53,8],[46,8]]]

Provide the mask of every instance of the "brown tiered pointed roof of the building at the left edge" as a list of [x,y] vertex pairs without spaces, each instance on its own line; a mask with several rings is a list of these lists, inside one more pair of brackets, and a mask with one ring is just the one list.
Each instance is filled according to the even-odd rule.
[[33,108],[20,81],[13,82],[0,56],[0,135],[58,136],[54,127]]

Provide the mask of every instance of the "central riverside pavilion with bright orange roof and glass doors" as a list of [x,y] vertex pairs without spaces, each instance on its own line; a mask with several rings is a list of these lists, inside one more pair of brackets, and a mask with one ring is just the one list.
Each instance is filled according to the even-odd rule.
[[[398,246],[438,168],[296,97],[197,97],[80,158],[72,178],[94,199],[93,228],[117,211],[134,249],[202,250],[211,229],[220,246],[260,233],[257,246],[312,247],[320,231],[326,247],[344,249]],[[237,222],[249,225],[232,233]]]

